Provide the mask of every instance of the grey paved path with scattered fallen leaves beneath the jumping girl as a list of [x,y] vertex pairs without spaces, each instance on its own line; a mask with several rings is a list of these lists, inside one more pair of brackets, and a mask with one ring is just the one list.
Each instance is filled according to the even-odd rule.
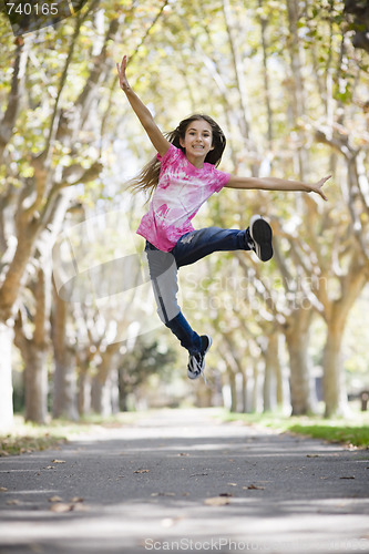
[[369,451],[208,411],[2,458],[0,488],[1,554],[369,553]]

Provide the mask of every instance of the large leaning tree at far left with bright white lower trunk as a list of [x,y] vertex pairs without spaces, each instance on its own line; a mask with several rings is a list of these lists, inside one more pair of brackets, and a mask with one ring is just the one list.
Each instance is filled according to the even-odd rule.
[[[91,8],[91,7],[90,7]],[[37,242],[44,228],[53,224],[53,217],[57,214],[55,206],[60,197],[63,195],[65,186],[74,184],[89,183],[93,181],[100,173],[101,164],[98,160],[83,160],[81,152],[78,153],[75,146],[75,136],[72,130],[83,129],[88,126],[89,121],[86,117],[86,110],[90,105],[92,96],[95,94],[96,86],[103,78],[104,72],[102,69],[103,62],[106,59],[106,44],[110,38],[117,29],[116,20],[111,22],[105,42],[95,57],[95,65],[90,71],[89,78],[84,83],[84,88],[73,107],[63,110],[61,107],[61,95],[68,82],[68,75],[71,69],[71,63],[76,49],[78,39],[81,32],[82,22],[90,13],[90,8],[79,12],[74,19],[74,29],[72,33],[69,32],[69,27],[61,27],[59,35],[61,41],[69,41],[68,55],[61,71],[60,79],[54,80],[52,85],[55,88],[54,103],[45,105],[47,121],[39,120],[40,126],[45,127],[45,141],[39,142],[35,146],[34,136],[30,136],[32,143],[31,147],[27,144],[25,140],[22,141],[23,158],[19,157],[17,148],[14,148],[13,140],[17,136],[14,133],[19,117],[24,120],[24,127],[34,125],[31,110],[33,105],[38,105],[40,99],[38,98],[38,88],[35,85],[21,86],[22,81],[28,78],[31,80],[29,54],[31,49],[30,39],[17,39],[16,54],[13,65],[13,78],[8,94],[7,110],[0,122],[0,154],[2,156],[3,166],[9,177],[6,188],[1,194],[2,205],[2,250],[3,267],[2,267],[2,281],[0,286],[0,320],[1,331],[3,332],[2,341],[8,340],[11,342],[11,324],[14,310],[17,309],[17,301],[20,290],[22,289],[22,279],[25,276],[25,267],[28,260],[33,256]],[[51,42],[51,37],[57,33],[52,30],[45,31],[44,38]],[[48,52],[48,50],[44,50]],[[24,70],[25,68],[25,70]],[[32,73],[32,76],[34,74]],[[42,75],[38,75],[42,79]],[[54,78],[50,78],[51,79]],[[27,109],[21,110],[21,99],[23,99]],[[41,99],[41,103],[42,103]],[[69,112],[69,114],[68,114]],[[70,115],[73,112],[73,120]],[[84,140],[84,142],[86,142]],[[63,157],[60,157],[61,151],[65,154],[69,152],[69,163],[65,164]],[[29,154],[29,153],[32,154]],[[73,158],[74,154],[74,158]],[[99,155],[99,152],[98,152]],[[14,167],[20,167],[20,172]],[[12,220],[13,228],[9,229],[9,222]],[[9,232],[10,230],[10,232]],[[8,232],[8,233],[7,233]],[[12,240],[17,237],[17,242]],[[7,348],[10,351],[10,347]],[[23,350],[24,351],[24,350]],[[0,420],[11,421],[11,388],[9,387],[10,380],[10,358],[2,358],[1,360],[1,378],[8,383],[7,389],[3,388],[3,396],[8,398],[0,407]],[[41,361],[40,361],[41,363]],[[8,376],[8,377],[7,377]]]

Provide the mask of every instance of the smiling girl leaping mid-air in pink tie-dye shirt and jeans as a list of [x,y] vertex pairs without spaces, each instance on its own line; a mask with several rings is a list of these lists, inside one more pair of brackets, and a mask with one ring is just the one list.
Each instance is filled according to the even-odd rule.
[[131,89],[125,70],[127,58],[116,64],[120,85],[157,151],[134,179],[135,188],[151,193],[152,202],[137,234],[146,239],[145,252],[157,312],[162,321],[188,350],[187,376],[197,379],[205,368],[212,339],[197,335],[176,301],[177,269],[213,252],[254,250],[263,260],[273,256],[271,228],[260,216],[252,217],[244,230],[209,227],[194,230],[191,219],[213,194],[224,186],[264,191],[305,191],[319,194],[329,177],[308,185],[298,181],[238,177],[216,170],[226,145],[221,127],[207,115],[192,115],[164,136],[150,111]]

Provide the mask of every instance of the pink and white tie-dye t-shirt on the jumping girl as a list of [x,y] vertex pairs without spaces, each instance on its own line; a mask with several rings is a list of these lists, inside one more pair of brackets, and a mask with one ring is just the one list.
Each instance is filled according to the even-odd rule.
[[185,233],[194,230],[191,219],[212,194],[228,183],[230,174],[208,163],[198,170],[173,144],[163,157],[157,154],[157,158],[158,184],[137,234],[160,250],[171,252]]

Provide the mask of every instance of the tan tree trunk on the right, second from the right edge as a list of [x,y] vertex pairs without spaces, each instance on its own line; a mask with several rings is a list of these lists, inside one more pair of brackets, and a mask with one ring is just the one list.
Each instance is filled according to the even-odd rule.
[[311,413],[316,407],[308,358],[311,315],[311,310],[300,308],[294,314],[285,331],[289,353],[293,416]]

